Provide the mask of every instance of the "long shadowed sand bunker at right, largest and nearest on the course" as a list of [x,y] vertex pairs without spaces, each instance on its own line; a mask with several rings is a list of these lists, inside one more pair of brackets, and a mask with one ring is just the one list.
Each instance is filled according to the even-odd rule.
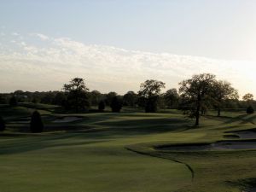
[[202,150],[238,150],[256,149],[256,141],[223,141],[212,144],[191,144],[162,147],[161,150],[170,151],[202,151]]

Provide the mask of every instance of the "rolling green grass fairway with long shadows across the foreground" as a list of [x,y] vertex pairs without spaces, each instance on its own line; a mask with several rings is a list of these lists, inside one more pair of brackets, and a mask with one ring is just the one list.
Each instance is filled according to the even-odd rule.
[[[224,140],[226,131],[255,128],[253,115],[207,116],[197,129],[176,111],[86,113],[65,124],[50,122],[56,114],[49,115],[47,126],[62,131],[13,134],[8,122],[0,137],[0,191],[238,192],[256,177],[255,150],[157,148]],[[81,130],[65,131],[66,126]]]

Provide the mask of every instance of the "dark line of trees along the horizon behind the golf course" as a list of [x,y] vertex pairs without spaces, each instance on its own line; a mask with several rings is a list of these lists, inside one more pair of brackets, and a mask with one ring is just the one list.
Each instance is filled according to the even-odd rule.
[[[177,108],[195,118],[195,125],[200,124],[201,115],[206,114],[209,109],[215,109],[218,116],[224,108],[247,108],[247,113],[254,112],[252,94],[243,96],[243,101],[239,101],[238,91],[229,82],[216,79],[213,74],[194,75],[178,85],[179,89],[173,88],[162,93],[166,84],[148,79],[140,84],[137,93],[128,91],[124,96],[119,96],[114,91],[108,94],[102,94],[98,90],[90,91],[84,79],[74,78],[64,84],[61,91],[16,90],[14,93],[0,94],[0,103],[15,106],[18,102],[40,102],[59,105],[76,113],[90,110],[104,112],[106,106],[112,108],[114,113],[120,112],[123,106],[144,108],[146,113],[155,113],[160,108]],[[91,106],[97,106],[97,109],[91,109]]]

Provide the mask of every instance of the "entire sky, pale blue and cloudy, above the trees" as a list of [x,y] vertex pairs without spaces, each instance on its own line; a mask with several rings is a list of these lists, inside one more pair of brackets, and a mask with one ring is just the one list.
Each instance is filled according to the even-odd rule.
[[256,95],[254,0],[2,0],[0,92],[166,89],[214,73]]

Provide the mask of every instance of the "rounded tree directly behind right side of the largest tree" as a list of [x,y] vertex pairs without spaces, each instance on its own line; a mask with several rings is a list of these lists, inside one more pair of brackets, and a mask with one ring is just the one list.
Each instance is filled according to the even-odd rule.
[[229,82],[215,81],[212,89],[213,107],[217,109],[218,116],[220,116],[225,101],[238,100],[239,98],[238,91],[235,90]]

